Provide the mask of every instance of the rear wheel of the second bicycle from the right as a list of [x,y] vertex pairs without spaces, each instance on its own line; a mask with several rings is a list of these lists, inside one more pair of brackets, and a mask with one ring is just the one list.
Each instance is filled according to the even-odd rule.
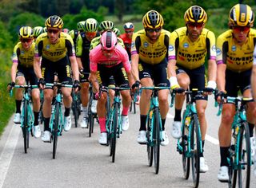
[[[183,113],[184,117],[184,113]],[[188,151],[188,135],[189,135],[189,126],[184,125],[182,128],[182,167],[183,167],[183,176],[185,179],[190,177],[190,157],[187,157]]]

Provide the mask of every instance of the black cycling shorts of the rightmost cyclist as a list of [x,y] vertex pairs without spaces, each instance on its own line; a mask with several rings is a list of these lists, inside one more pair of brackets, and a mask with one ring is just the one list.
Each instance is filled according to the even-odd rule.
[[251,69],[240,73],[226,69],[225,90],[227,96],[237,97],[239,90],[243,93],[250,88],[250,74]]

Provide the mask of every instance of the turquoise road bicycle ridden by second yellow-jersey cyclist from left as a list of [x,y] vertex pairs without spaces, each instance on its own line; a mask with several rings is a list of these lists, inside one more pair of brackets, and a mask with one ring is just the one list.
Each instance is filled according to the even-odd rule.
[[57,96],[54,104],[52,105],[52,111],[50,115],[50,131],[52,133],[50,142],[53,141],[53,159],[56,158],[56,151],[57,151],[57,143],[58,143],[58,136],[62,135],[62,130],[64,127],[64,119],[62,115],[62,87],[66,88],[73,88],[73,85],[70,84],[61,84],[61,83],[54,83],[48,84],[46,83],[46,88],[54,88],[57,87]]

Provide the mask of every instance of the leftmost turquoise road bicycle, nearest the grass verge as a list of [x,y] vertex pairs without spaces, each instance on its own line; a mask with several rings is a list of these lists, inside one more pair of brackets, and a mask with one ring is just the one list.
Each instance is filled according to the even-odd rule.
[[[21,127],[24,140],[24,151],[27,153],[27,149],[30,147],[30,135],[33,136],[32,130],[34,128],[34,113],[30,107],[30,90],[32,88],[38,88],[38,85],[15,85],[14,88],[24,88],[22,99]],[[12,89],[10,90],[10,96],[12,96]]]

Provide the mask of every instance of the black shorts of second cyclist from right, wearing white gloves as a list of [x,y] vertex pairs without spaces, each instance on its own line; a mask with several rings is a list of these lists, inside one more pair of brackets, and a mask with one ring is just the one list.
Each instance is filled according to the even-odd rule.
[[[176,74],[186,73],[190,77],[190,89],[198,88],[198,91],[202,91],[206,88],[206,75],[205,66],[202,65],[196,69],[186,69],[177,65]],[[208,100],[208,96],[202,96],[202,94],[195,96],[195,100]]]

